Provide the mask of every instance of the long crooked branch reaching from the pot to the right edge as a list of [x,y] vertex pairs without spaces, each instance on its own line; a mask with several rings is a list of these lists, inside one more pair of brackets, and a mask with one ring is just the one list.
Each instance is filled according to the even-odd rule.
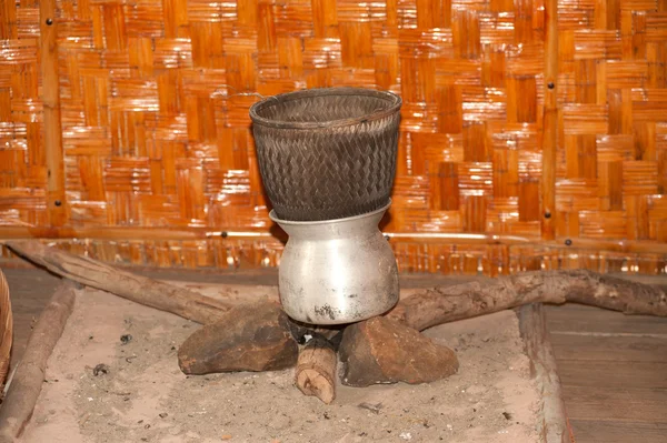
[[416,330],[530,303],[575,302],[626,314],[667,316],[664,290],[590,271],[535,271],[436,288],[401,300],[388,314]]

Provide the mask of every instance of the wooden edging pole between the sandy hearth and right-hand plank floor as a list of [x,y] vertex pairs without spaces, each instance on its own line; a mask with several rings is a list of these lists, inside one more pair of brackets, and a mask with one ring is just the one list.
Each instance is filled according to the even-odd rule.
[[540,390],[542,420],[538,423],[538,433],[545,443],[569,443],[560,379],[542,305],[534,303],[521,306],[518,315],[526,354],[530,358],[531,374]]

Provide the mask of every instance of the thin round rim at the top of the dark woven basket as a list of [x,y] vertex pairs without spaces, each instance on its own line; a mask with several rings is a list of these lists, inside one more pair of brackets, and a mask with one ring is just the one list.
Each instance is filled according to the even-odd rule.
[[[327,95],[366,95],[377,99],[382,99],[389,102],[389,107],[381,111],[369,113],[366,115],[329,120],[320,122],[307,122],[307,121],[285,121],[285,120],[270,120],[258,114],[265,108],[272,105],[275,102],[286,102],[300,100],[310,97],[327,97]],[[354,87],[336,87],[336,88],[310,88],[301,89],[297,91],[286,92],[277,95],[267,97],[266,99],[253,103],[250,107],[250,118],[253,123],[275,129],[322,129],[322,128],[337,128],[346,127],[351,124],[364,123],[371,120],[382,119],[385,117],[396,113],[402,104],[400,95],[390,91],[380,91],[368,88],[354,88]]]

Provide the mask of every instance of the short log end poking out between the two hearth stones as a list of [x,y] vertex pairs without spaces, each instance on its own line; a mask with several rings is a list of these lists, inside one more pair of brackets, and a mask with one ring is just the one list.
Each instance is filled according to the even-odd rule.
[[337,362],[335,346],[323,336],[313,336],[299,353],[297,387],[306,395],[331,403],[336,399]]

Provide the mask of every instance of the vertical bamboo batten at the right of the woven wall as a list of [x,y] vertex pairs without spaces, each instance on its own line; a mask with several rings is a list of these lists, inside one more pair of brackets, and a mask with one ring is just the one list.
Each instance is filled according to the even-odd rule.
[[558,0],[545,0],[545,112],[542,125],[541,235],[556,236],[556,147],[558,142]]

